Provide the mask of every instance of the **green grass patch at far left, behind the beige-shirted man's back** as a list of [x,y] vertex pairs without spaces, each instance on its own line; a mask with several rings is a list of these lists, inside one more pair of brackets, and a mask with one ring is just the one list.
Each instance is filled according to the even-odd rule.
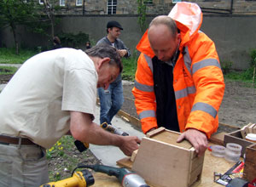
[[23,64],[26,59],[38,54],[33,50],[20,48],[19,54],[15,54],[15,48],[0,48],[0,64]]

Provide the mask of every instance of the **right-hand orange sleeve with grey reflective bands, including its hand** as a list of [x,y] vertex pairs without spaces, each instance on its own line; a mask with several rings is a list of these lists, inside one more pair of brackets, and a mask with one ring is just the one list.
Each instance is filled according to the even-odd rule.
[[212,40],[204,33],[196,38],[201,41],[191,52],[191,72],[195,82],[195,100],[189,114],[185,132],[177,139],[188,139],[199,156],[207,149],[207,138],[218,128],[218,109],[224,96],[224,77],[218,54]]

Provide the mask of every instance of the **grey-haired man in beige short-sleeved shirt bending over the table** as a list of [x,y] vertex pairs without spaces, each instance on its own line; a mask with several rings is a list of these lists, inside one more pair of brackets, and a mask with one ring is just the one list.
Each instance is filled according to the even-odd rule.
[[61,136],[118,146],[126,156],[140,139],[118,136],[92,122],[96,88],[108,88],[122,64],[117,50],[61,48],[37,54],[20,67],[0,94],[0,186],[49,181],[45,149]]

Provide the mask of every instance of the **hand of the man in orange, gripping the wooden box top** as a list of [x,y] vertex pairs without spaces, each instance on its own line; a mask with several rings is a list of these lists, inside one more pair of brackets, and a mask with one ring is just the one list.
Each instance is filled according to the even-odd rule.
[[177,142],[181,142],[183,139],[188,139],[189,142],[194,146],[195,152],[198,156],[203,156],[207,150],[207,135],[194,128],[189,128],[182,133],[178,138]]

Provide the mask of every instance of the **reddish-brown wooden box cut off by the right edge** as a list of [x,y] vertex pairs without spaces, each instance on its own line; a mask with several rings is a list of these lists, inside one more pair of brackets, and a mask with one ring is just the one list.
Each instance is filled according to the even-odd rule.
[[243,178],[247,181],[253,181],[256,178],[256,144],[247,146]]

